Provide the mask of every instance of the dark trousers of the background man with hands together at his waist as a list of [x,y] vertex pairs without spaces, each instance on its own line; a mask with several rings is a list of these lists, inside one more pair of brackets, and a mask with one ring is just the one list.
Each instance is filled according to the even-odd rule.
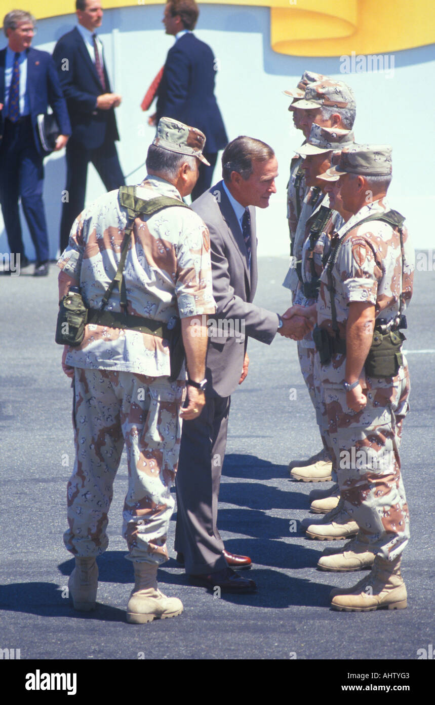
[[[103,129],[103,128],[101,128]],[[84,208],[86,195],[87,166],[92,161],[101,181],[108,191],[113,191],[125,184],[122,175],[115,142],[106,140],[101,147],[86,149],[73,138],[66,145],[66,197],[61,218],[61,252],[65,250],[70,239],[70,230],[77,216]]]

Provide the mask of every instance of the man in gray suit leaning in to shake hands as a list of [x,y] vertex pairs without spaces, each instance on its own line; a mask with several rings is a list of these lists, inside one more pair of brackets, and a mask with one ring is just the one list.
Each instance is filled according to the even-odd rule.
[[208,330],[213,335],[209,335],[203,382],[206,406],[197,419],[183,423],[176,481],[175,550],[194,584],[220,587],[222,591],[256,589],[253,580],[232,570],[249,568],[251,558],[225,551],[216,526],[230,395],[248,374],[246,338],[251,336],[270,345],[277,331],[299,339],[310,327],[306,318],[282,319],[252,303],[257,286],[254,206],[269,205],[270,196],[276,193],[277,167],[269,145],[251,137],[237,137],[222,154],[223,180],[192,205],[210,231],[217,320]]

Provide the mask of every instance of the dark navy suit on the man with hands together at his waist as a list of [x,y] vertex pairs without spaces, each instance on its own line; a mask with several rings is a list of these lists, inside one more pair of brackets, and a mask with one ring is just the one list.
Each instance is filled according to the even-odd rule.
[[84,208],[87,166],[92,161],[108,191],[125,181],[115,147],[119,140],[115,110],[99,110],[96,99],[110,93],[111,87],[103,63],[106,87],[100,83],[86,44],[75,27],[63,35],[54,47],[53,59],[58,69],[63,94],[70,114],[73,135],[66,147],[68,202],[64,202],[61,220],[61,251],[68,245],[70,229]]

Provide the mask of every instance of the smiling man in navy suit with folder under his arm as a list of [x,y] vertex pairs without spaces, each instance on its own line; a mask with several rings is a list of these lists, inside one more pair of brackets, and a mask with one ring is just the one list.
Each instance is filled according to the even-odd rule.
[[[20,267],[27,266],[21,233],[18,198],[36,251],[35,276],[49,271],[49,238],[42,190],[44,150],[37,118],[51,106],[61,135],[56,150],[65,147],[71,125],[53,59],[32,49],[34,18],[13,10],[4,18],[8,46],[0,51],[0,200],[11,253]],[[11,271],[10,269],[8,271]]]

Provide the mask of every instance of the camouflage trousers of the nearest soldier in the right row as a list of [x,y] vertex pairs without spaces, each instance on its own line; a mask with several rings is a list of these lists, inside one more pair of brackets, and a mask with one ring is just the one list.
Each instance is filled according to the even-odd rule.
[[342,386],[322,386],[327,440],[344,509],[374,552],[394,560],[410,536],[399,455],[409,409],[408,367],[399,368],[393,384],[367,376],[366,386],[367,405],[358,413],[346,404]]

